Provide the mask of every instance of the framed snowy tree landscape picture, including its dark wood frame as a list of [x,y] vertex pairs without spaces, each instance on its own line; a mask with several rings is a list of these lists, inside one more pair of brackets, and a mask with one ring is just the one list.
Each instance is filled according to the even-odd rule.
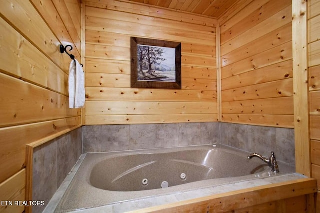
[[131,37],[131,88],[181,89],[181,43]]

